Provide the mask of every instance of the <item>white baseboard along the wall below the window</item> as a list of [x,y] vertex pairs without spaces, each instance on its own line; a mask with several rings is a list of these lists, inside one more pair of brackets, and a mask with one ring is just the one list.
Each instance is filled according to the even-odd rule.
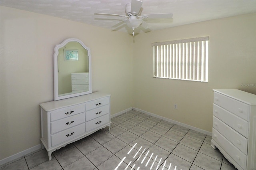
[[150,112],[147,112],[147,111],[144,111],[144,110],[141,110],[141,109],[137,109],[137,108],[135,108],[135,107],[133,107],[132,110],[139,111],[139,112],[141,112],[141,113],[145,113],[145,114],[147,114],[147,115],[150,115],[150,116],[153,116],[153,117],[157,117],[157,118],[159,118],[159,119],[163,119],[164,121],[168,121],[168,122],[170,122],[170,123],[174,123],[174,124],[180,125],[180,126],[182,126],[182,127],[190,128],[190,129],[195,130],[195,131],[197,131],[197,132],[200,132],[200,133],[203,133],[203,134],[207,134],[207,135],[209,135],[209,136],[212,136],[212,132],[208,132],[208,131],[203,130],[203,129],[200,129],[200,128],[192,127],[192,126],[190,126],[190,125],[186,125],[186,124],[184,124],[184,123],[180,123],[180,122],[174,121],[174,120],[172,120],[172,119],[168,119],[168,118],[166,118],[166,117],[162,117],[162,116],[156,115],[156,114],[154,114],[154,113],[150,113]]

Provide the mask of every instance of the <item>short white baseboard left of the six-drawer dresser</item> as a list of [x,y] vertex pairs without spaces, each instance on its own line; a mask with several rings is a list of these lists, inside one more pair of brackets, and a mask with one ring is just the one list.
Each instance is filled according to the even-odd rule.
[[16,159],[18,159],[18,158],[21,158],[22,156],[25,156],[26,154],[30,154],[30,153],[32,153],[32,152],[34,152],[34,151],[40,150],[41,148],[42,148],[42,147],[41,147],[41,144],[38,144],[38,145],[36,145],[36,146],[33,146],[32,148],[28,148],[28,149],[26,149],[26,150],[23,150],[22,152],[19,152],[19,153],[17,153],[17,154],[14,154],[14,155],[12,155],[12,156],[9,156],[9,157],[7,157],[7,158],[4,158],[4,159],[0,160],[0,167],[1,167],[1,165],[3,165],[3,164],[6,164],[6,163],[11,162],[11,161],[13,161],[13,160],[16,160]]

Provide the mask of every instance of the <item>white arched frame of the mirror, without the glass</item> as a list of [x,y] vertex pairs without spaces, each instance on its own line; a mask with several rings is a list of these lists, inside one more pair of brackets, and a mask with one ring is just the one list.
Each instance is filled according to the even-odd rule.
[[[84,49],[86,49],[88,51],[89,91],[59,96],[59,94],[58,94],[58,54],[59,54],[59,48],[64,47],[69,42],[78,42],[82,45],[82,47],[84,47]],[[62,43],[55,45],[54,55],[53,55],[53,72],[54,72],[54,74],[53,74],[53,76],[54,76],[54,101],[92,93],[92,56],[91,56],[91,51],[90,51],[90,48],[87,47],[86,45],[84,45],[84,43],[81,40],[78,40],[76,38],[68,38],[68,39],[64,40]]]

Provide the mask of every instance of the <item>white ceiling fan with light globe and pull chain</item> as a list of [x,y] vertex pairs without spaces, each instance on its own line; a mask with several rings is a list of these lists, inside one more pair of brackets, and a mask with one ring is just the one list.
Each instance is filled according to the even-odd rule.
[[125,6],[126,15],[119,14],[105,14],[105,13],[94,13],[95,15],[104,15],[104,16],[118,16],[127,18],[122,20],[120,23],[116,24],[118,26],[122,23],[125,23],[128,27],[132,28],[132,35],[134,36],[134,29],[142,26],[143,28],[149,28],[148,23],[143,19],[163,19],[163,18],[172,18],[172,13],[162,13],[162,14],[144,14],[140,15],[140,10],[142,6],[142,1],[140,0],[131,0],[130,3]]

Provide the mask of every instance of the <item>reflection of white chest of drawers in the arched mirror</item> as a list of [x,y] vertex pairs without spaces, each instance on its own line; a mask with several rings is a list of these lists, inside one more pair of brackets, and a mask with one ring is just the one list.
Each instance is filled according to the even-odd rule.
[[89,91],[89,73],[71,73],[72,93]]

